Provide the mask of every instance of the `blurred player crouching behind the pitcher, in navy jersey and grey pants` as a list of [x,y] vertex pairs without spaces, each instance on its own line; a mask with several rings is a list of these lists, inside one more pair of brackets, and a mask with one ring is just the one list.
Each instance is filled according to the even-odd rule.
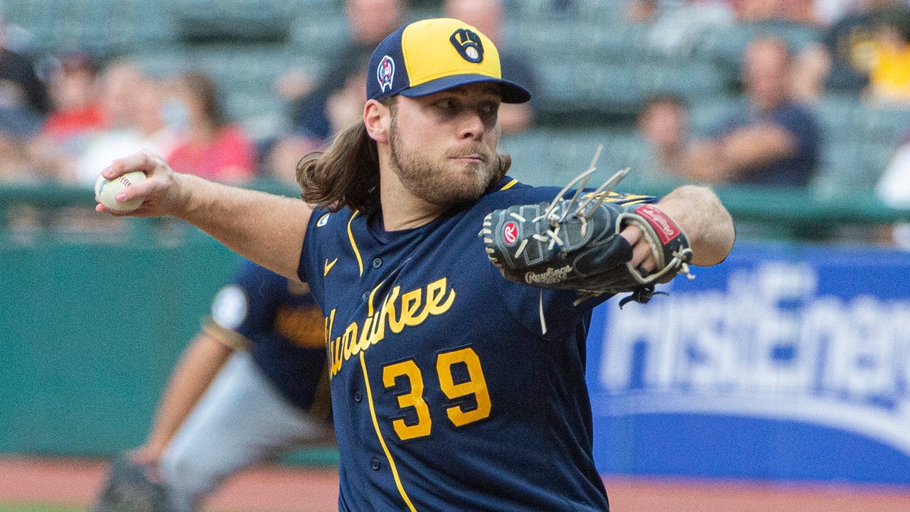
[[322,314],[307,285],[243,261],[133,459],[157,473],[170,510],[198,510],[227,476],[332,440],[325,366]]

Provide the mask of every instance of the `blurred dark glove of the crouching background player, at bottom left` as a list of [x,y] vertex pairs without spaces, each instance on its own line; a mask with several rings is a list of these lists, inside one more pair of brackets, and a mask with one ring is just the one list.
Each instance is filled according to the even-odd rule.
[[129,454],[121,454],[111,463],[92,512],[174,511],[167,500],[167,489],[153,481],[149,468],[134,463]]

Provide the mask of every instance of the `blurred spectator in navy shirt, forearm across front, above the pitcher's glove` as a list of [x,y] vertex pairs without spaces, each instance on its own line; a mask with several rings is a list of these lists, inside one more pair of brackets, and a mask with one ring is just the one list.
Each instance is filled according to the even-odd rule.
[[819,131],[811,111],[792,99],[792,56],[786,43],[760,36],[746,47],[743,84],[749,105],[693,143],[686,175],[709,182],[805,187],[813,178]]

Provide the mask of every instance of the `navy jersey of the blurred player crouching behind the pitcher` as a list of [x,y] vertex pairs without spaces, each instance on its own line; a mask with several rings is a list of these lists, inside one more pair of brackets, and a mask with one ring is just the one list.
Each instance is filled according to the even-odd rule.
[[304,283],[242,261],[212,302],[207,333],[248,349],[276,389],[304,411],[329,417],[322,312]]

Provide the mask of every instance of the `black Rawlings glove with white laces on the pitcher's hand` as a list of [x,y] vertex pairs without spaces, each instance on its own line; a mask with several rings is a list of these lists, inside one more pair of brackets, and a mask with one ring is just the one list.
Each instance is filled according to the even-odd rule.
[[[631,293],[620,307],[629,301],[648,302],[655,283],[670,282],[679,273],[692,279],[689,239],[669,216],[652,204],[604,201],[629,169],[583,194],[593,171],[591,162],[591,168],[572,179],[549,204],[511,206],[483,220],[480,236],[502,275],[539,288],[577,290],[579,302],[602,293]],[[571,200],[564,199],[579,182]],[[638,226],[651,245],[657,262],[654,271],[632,266],[632,246],[619,234],[628,225]]]

